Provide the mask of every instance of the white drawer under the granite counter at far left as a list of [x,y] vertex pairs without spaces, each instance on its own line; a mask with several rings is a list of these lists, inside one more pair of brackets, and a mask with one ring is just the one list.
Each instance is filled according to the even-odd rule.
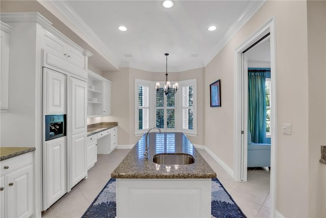
[[[33,163],[33,152],[29,152],[26,154],[22,154],[13,158],[9,158],[7,160],[1,161],[1,171],[0,175],[5,175],[7,173],[11,173],[18,168],[26,166],[28,164]],[[7,168],[8,166],[8,168]],[[5,168],[6,167],[6,168]]]

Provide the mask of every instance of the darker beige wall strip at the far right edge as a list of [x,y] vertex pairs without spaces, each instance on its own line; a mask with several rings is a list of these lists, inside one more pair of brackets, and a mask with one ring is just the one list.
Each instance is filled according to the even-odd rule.
[[326,2],[308,1],[309,215],[322,217],[325,166],[319,163],[326,143]]

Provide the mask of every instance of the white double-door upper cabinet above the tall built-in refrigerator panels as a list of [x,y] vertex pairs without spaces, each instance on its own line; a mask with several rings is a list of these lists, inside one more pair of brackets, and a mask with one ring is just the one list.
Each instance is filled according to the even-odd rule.
[[45,50],[57,57],[79,67],[84,68],[85,56],[82,51],[66,44],[53,34],[45,31]]

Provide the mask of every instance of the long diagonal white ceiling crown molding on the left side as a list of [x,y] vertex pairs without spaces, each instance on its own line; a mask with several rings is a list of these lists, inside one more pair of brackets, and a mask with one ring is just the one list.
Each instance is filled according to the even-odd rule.
[[[117,69],[118,60],[116,57],[108,50],[106,44],[94,33],[94,31],[84,22],[82,18],[67,4],[65,1],[47,1],[50,5],[55,7],[66,19],[68,19],[72,25],[80,31],[84,37],[86,37],[93,45],[94,49]],[[83,37],[82,37],[83,38]]]

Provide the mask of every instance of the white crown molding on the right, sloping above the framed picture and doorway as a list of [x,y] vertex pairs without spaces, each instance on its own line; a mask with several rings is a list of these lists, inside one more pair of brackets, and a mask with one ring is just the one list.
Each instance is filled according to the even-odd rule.
[[256,14],[256,12],[267,2],[267,0],[260,0],[260,1],[252,1],[248,4],[246,9],[244,9],[243,13],[239,16],[237,21],[232,23],[228,31],[224,34],[222,39],[216,44],[212,52],[204,58],[204,66],[207,64],[217,55],[223,47],[234,37],[234,35],[244,26],[246,23]]

